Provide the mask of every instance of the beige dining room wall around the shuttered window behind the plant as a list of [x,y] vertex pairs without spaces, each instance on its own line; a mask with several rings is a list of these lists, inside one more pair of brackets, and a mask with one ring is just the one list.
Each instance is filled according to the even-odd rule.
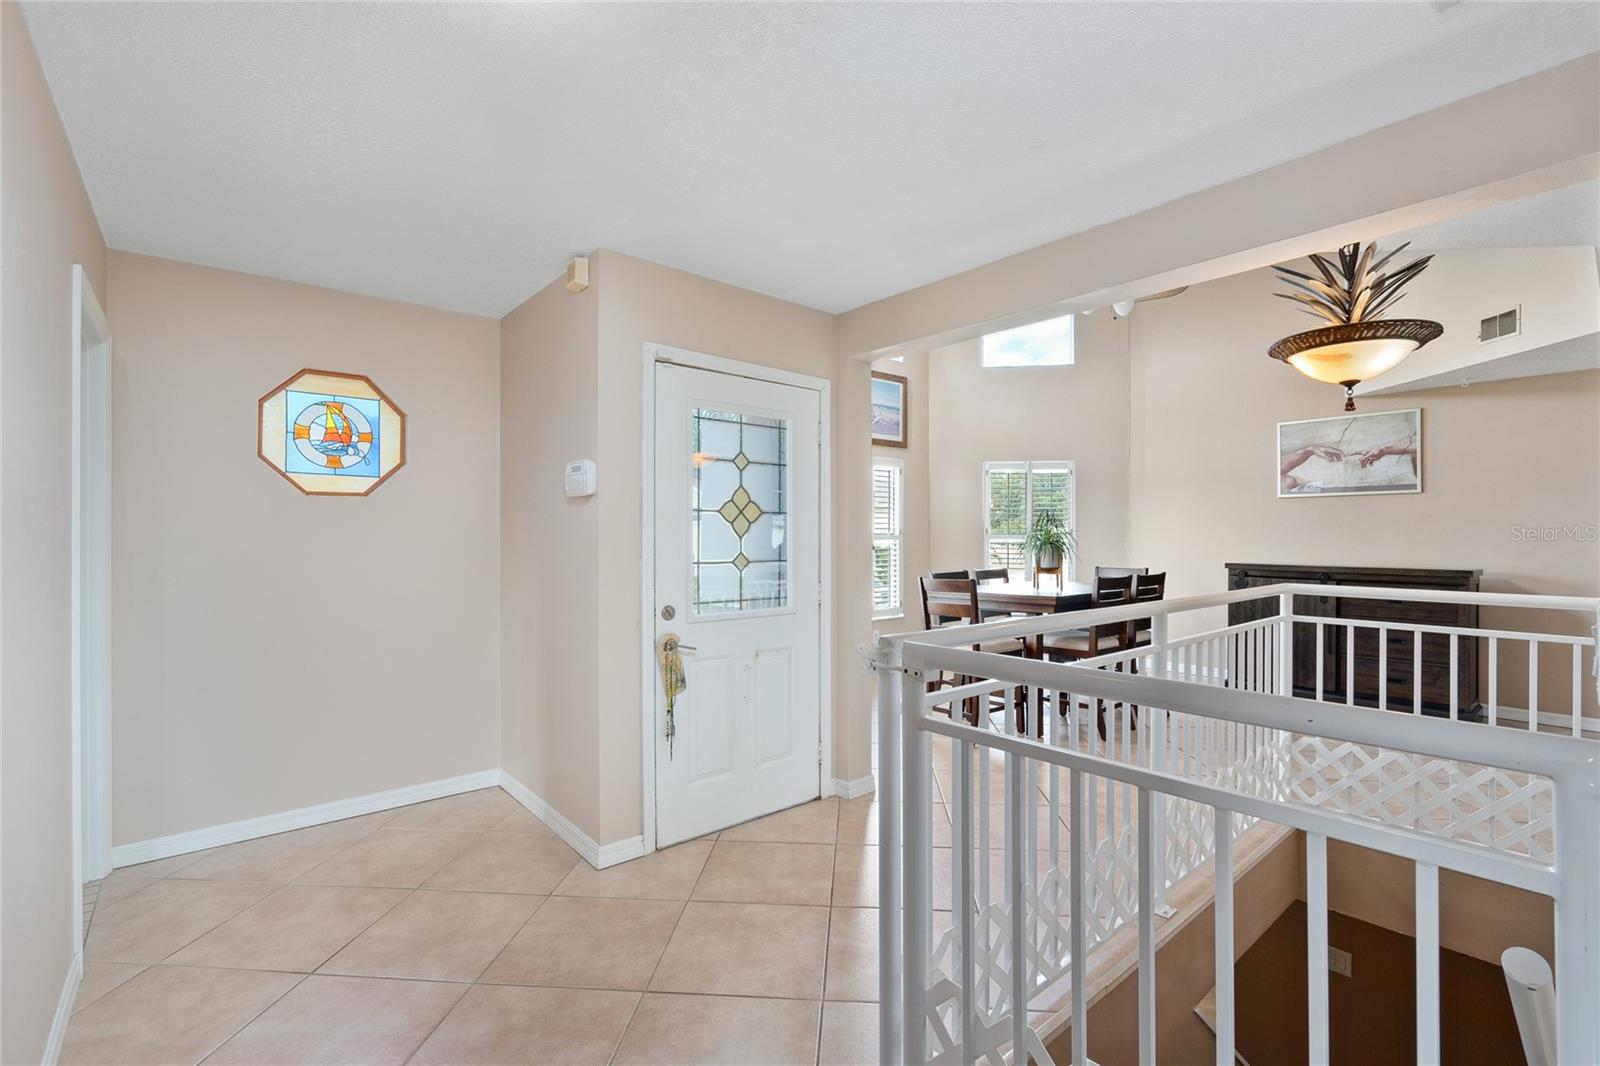
[[982,464],[1006,459],[1072,459],[1077,573],[1128,562],[1128,320],[1074,328],[1072,367],[984,368],[981,341],[928,354],[936,570],[984,565]]

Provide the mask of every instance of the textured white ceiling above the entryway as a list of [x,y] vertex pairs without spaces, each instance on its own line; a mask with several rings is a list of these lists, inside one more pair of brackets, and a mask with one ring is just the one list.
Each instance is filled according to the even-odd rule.
[[843,311],[1600,45],[1587,3],[26,13],[112,246],[493,315],[597,246]]

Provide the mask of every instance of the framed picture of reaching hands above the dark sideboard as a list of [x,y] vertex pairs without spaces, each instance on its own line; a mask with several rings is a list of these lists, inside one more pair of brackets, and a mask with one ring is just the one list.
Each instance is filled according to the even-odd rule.
[[1422,408],[1278,423],[1278,496],[1422,491]]

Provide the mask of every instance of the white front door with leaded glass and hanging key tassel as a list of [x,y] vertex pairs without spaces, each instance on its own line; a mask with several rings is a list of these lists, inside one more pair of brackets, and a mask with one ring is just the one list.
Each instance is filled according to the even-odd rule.
[[[821,794],[818,419],[811,389],[656,363],[656,842]],[[651,632],[651,627],[646,627]]]

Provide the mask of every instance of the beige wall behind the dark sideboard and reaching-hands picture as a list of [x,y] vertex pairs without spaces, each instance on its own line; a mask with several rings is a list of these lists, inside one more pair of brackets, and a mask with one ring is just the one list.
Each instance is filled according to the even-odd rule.
[[[1448,256],[1435,262],[1450,271]],[[1600,592],[1594,541],[1512,535],[1600,523],[1600,371],[1365,397],[1362,411],[1422,408],[1424,491],[1278,499],[1277,423],[1342,403],[1338,387],[1267,359],[1304,328],[1272,291],[1253,271],[1133,314],[1130,555],[1168,571],[1168,595],[1222,591],[1227,562],[1477,568],[1493,592]],[[1485,624],[1539,623],[1485,611]],[[1565,666],[1544,671],[1546,707],[1571,699]],[[1502,706],[1526,706],[1510,650],[1501,682]]]

